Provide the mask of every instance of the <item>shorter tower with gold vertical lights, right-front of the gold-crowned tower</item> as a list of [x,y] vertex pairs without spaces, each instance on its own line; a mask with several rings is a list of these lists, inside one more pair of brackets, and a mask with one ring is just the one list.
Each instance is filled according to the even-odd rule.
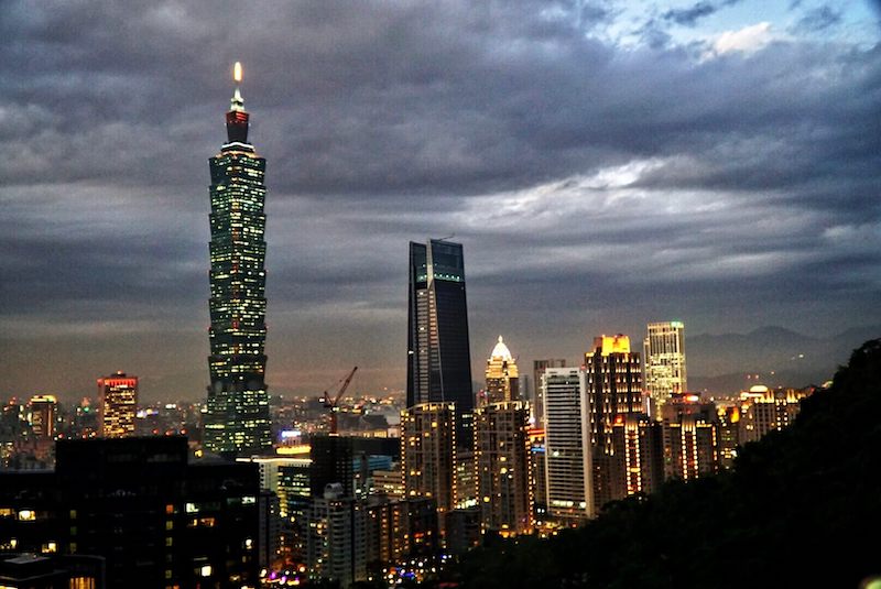
[[653,493],[664,482],[661,424],[641,413],[618,415],[612,425],[612,495],[624,498]]

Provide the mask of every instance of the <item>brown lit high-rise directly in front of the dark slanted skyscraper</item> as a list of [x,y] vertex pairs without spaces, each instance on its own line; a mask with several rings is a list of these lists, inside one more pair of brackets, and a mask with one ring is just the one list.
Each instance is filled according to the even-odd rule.
[[458,500],[457,462],[453,403],[422,403],[401,412],[404,497],[433,499],[442,525]]

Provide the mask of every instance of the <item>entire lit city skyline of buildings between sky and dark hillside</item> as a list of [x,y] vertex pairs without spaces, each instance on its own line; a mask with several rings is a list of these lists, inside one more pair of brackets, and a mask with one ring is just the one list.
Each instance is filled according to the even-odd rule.
[[0,586],[420,579],[487,535],[553,533],[667,479],[716,472],[807,394],[755,388],[717,405],[689,393],[677,321],[649,324],[642,352],[600,336],[578,366],[535,360],[531,379],[500,336],[475,394],[463,247],[433,239],[410,243],[398,436],[279,443],[265,384],[265,160],[238,87],[226,124],[209,161],[200,427],[139,436],[138,379],[121,372],[98,381],[86,439],[64,439],[56,401],[33,397],[31,437],[54,449],[54,469],[0,472]]

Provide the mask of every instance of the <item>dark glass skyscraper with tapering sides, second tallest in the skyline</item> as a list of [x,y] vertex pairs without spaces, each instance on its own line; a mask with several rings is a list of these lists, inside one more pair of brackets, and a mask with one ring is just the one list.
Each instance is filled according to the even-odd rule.
[[475,406],[465,260],[459,243],[410,242],[406,405],[455,403],[457,438],[470,447]]

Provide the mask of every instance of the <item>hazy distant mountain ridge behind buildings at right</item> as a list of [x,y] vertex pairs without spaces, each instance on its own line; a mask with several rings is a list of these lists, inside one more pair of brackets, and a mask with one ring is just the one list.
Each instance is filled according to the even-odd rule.
[[749,334],[686,335],[688,388],[733,394],[759,383],[822,384],[847,361],[851,350],[879,336],[881,325],[853,327],[826,338],[777,326],[761,327]]

